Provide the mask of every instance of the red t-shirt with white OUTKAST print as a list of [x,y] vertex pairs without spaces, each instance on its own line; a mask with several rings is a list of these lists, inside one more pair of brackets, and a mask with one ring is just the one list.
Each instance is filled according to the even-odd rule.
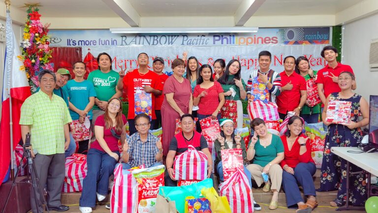
[[[158,74],[149,70],[146,74],[140,75],[138,69],[129,72],[124,77],[124,90],[127,90],[128,98],[128,113],[127,119],[134,119],[135,109],[134,109],[134,95],[137,90],[143,90],[143,86],[151,86],[154,89],[163,90],[162,84],[159,82]],[[156,119],[155,115],[155,95],[151,93],[152,99],[152,119]]]

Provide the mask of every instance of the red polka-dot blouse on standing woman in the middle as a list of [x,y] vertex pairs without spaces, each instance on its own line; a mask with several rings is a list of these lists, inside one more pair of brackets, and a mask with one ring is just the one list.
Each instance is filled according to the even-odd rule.
[[214,81],[214,85],[208,89],[202,88],[197,84],[194,87],[193,97],[198,97],[202,91],[206,91],[207,94],[199,99],[199,109],[197,113],[202,115],[213,114],[219,105],[219,93],[223,92],[223,88],[218,81]]

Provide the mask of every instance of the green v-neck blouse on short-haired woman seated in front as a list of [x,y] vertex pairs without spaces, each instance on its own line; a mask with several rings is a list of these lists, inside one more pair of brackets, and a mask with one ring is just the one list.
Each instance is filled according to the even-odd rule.
[[277,153],[284,152],[284,144],[282,144],[282,140],[279,136],[272,134],[272,142],[269,146],[264,148],[260,145],[260,139],[257,139],[254,149],[255,154],[252,163],[264,167],[277,157]]

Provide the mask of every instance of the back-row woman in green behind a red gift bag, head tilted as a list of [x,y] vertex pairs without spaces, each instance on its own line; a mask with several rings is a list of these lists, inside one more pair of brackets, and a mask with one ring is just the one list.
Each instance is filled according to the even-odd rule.
[[[303,76],[306,81],[314,79],[316,80],[317,71],[312,70],[310,67],[309,59],[305,56],[299,56],[296,60],[295,72]],[[315,91],[317,93],[317,91]],[[319,121],[320,104],[313,107],[310,106],[309,100],[306,100],[306,105],[303,106],[300,116],[308,124],[315,124]]]

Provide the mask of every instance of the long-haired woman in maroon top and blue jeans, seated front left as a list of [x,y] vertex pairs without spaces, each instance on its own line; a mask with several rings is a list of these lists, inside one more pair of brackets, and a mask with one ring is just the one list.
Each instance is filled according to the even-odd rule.
[[95,121],[96,139],[87,154],[87,176],[83,181],[83,191],[79,201],[82,213],[91,213],[96,206],[96,197],[103,201],[109,189],[109,177],[119,160],[118,140],[125,141],[126,116],[122,114],[122,102],[112,98],[103,115]]

